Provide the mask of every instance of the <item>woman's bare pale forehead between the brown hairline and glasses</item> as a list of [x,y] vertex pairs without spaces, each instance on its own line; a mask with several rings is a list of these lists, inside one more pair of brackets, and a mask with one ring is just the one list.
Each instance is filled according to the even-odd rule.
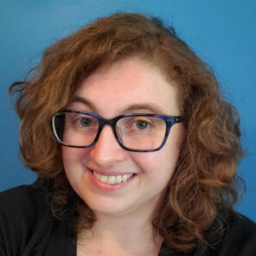
[[135,58],[99,67],[74,93],[74,104],[81,104],[76,99],[85,99],[84,105],[93,108],[90,111],[105,116],[131,106],[156,106],[156,112],[180,114],[175,82],[166,80],[157,67]]

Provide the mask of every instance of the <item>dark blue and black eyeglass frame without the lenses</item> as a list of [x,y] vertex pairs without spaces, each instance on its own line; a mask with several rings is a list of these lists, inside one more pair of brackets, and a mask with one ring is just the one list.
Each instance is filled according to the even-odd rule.
[[[68,144],[63,143],[61,141],[61,139],[58,137],[57,132],[55,130],[55,125],[54,125],[54,118],[55,118],[55,116],[57,116],[57,115],[59,115],[61,113],[79,113],[79,114],[86,114],[88,116],[96,118],[98,120],[98,122],[99,122],[99,130],[97,132],[96,137],[93,140],[93,143],[89,144],[89,145],[86,145],[86,146],[68,145]],[[118,138],[118,131],[117,131],[116,127],[117,127],[117,122],[118,122],[119,119],[121,119],[121,118],[128,118],[128,117],[154,117],[154,118],[161,118],[161,119],[163,119],[163,121],[165,122],[165,125],[166,125],[166,130],[165,130],[165,135],[164,135],[162,144],[160,144],[160,146],[157,149],[155,149],[155,150],[132,150],[130,148],[125,147],[125,145],[122,143],[121,139]],[[102,118],[99,115],[97,115],[95,113],[92,113],[92,112],[83,112],[83,111],[74,111],[74,110],[63,110],[61,112],[57,112],[57,113],[54,114],[54,116],[52,118],[52,128],[53,128],[54,138],[56,139],[56,141],[59,144],[62,144],[62,145],[67,146],[67,147],[72,147],[72,148],[90,148],[94,144],[97,143],[97,141],[99,139],[100,132],[102,131],[104,125],[111,125],[112,126],[112,131],[114,132],[114,135],[115,135],[115,138],[117,139],[118,144],[123,149],[128,150],[128,151],[135,151],[135,152],[154,152],[154,151],[157,151],[157,150],[161,150],[163,148],[163,146],[166,143],[166,140],[167,140],[167,138],[169,136],[171,126],[175,125],[177,123],[182,123],[182,121],[183,121],[183,117],[182,116],[168,116],[168,115],[162,115],[162,114],[147,114],[147,113],[141,113],[140,114],[140,113],[134,113],[134,114],[119,115],[116,118],[107,119],[107,118]]]

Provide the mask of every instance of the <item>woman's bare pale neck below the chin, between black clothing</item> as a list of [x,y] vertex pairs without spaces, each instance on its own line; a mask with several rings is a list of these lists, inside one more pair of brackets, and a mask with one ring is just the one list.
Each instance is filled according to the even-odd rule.
[[[152,216],[97,214],[91,231],[80,236],[85,250],[100,248],[94,255],[157,255],[163,238],[151,224]],[[85,243],[83,243],[83,241]],[[93,253],[92,253],[93,254]]]

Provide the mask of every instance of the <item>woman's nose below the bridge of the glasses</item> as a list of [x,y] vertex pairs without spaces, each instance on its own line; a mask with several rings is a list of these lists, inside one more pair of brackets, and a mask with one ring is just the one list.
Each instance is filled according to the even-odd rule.
[[126,156],[127,151],[118,144],[112,127],[105,125],[90,152],[93,162],[101,168],[109,168],[114,163],[124,161]]

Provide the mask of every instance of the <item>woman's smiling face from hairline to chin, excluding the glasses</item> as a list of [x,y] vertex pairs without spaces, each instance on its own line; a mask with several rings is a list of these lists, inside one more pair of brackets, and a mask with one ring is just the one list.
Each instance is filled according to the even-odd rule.
[[[176,86],[156,67],[134,58],[99,67],[81,82],[67,109],[103,118],[127,113],[182,114]],[[176,168],[183,134],[181,123],[173,125],[163,149],[133,152],[123,149],[112,127],[105,125],[91,148],[62,146],[67,178],[96,215],[153,214]],[[121,176],[122,182],[102,182],[108,180],[102,176]]]

